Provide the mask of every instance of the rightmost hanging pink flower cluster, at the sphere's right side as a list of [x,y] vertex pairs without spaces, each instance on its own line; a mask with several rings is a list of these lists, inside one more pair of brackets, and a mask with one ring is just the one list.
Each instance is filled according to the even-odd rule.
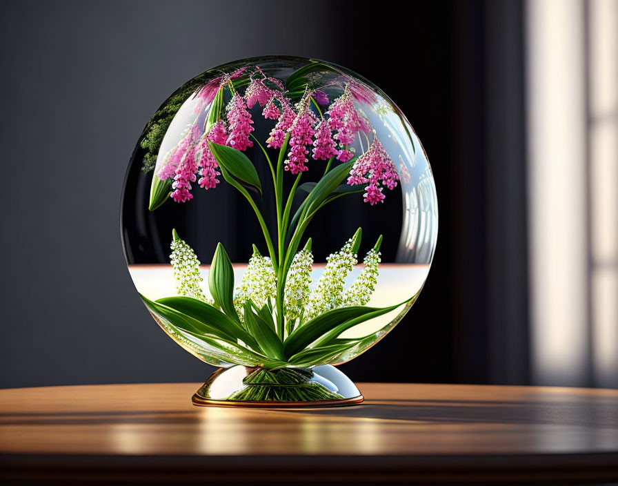
[[395,163],[375,137],[369,150],[363,153],[352,166],[348,184],[350,186],[368,184],[363,200],[373,205],[384,199],[383,188],[386,187],[392,191],[397,186],[398,180],[399,174]]

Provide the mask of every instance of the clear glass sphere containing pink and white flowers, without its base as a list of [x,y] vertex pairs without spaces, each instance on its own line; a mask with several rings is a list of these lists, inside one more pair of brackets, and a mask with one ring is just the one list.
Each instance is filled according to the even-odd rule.
[[260,57],[203,72],[128,167],[128,269],[166,333],[220,367],[312,369],[366,351],[410,310],[438,228],[427,155],[354,72]]

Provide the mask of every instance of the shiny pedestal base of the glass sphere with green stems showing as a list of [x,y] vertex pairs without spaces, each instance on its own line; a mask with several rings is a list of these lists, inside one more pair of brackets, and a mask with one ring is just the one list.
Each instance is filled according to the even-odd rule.
[[364,400],[352,380],[337,368],[265,370],[221,368],[193,395],[193,405],[215,407],[341,407]]

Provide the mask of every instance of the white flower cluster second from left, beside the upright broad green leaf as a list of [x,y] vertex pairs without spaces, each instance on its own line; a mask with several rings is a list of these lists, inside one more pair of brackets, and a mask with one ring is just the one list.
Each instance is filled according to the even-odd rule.
[[263,307],[268,299],[274,299],[276,295],[277,276],[272,262],[269,257],[263,257],[254,249],[235,296],[235,307],[237,310],[242,309],[249,299],[258,307]]

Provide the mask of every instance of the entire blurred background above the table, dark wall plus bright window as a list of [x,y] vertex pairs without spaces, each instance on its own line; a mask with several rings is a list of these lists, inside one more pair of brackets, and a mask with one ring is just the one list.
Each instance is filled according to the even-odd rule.
[[618,0],[3,3],[0,387],[203,381],[130,280],[143,126],[219,64],[346,66],[406,113],[439,202],[417,304],[353,380],[618,387]]

